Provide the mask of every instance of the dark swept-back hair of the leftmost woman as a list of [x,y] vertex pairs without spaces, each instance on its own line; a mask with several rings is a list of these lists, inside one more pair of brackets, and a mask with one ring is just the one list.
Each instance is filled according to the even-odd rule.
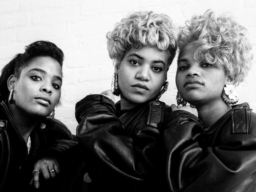
[[19,78],[22,68],[29,65],[31,59],[40,56],[49,56],[55,59],[58,61],[62,69],[64,54],[63,51],[54,43],[49,41],[36,41],[28,46],[25,46],[25,52],[15,55],[15,57],[2,69],[2,74],[0,76],[1,100],[6,100],[10,93],[7,87],[8,78],[13,74]]

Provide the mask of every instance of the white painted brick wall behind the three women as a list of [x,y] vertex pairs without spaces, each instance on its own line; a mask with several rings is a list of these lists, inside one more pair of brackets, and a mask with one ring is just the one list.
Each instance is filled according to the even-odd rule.
[[[0,7],[0,69],[15,54],[23,53],[25,45],[37,40],[54,42],[63,50],[62,105],[57,107],[56,117],[73,134],[77,126],[75,103],[87,94],[110,89],[114,68],[107,53],[105,35],[129,12],[153,10],[183,25],[193,14],[202,14],[207,9],[216,13],[229,11],[247,28],[256,53],[256,4],[253,0],[0,0]],[[254,65],[238,90],[239,102],[249,102],[256,111]],[[168,72],[169,89],[162,96],[162,101],[169,105],[176,102],[175,72],[176,60]]]

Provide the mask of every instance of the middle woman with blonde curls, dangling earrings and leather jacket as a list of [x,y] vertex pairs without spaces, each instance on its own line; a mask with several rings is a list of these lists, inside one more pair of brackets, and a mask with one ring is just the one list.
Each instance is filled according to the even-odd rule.
[[[159,130],[170,107],[159,98],[178,38],[171,19],[153,12],[132,13],[107,33],[112,90],[76,104],[77,139],[88,167],[79,174],[88,191],[156,191],[164,182]],[[115,103],[113,94],[121,100]]]

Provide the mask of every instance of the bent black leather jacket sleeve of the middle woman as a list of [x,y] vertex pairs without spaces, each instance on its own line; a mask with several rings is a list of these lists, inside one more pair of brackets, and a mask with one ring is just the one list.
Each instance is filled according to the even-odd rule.
[[88,95],[76,105],[78,143],[86,154],[118,175],[135,181],[154,171],[155,139],[159,131],[139,126],[127,134],[115,115],[114,102],[103,95]]

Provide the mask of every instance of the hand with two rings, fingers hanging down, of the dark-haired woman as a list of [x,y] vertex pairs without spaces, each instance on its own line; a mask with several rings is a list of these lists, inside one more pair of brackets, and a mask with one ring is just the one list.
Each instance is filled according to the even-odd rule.
[[55,178],[59,173],[59,163],[55,158],[42,158],[34,164],[33,178],[30,185],[39,188],[39,175],[42,174],[45,180]]

